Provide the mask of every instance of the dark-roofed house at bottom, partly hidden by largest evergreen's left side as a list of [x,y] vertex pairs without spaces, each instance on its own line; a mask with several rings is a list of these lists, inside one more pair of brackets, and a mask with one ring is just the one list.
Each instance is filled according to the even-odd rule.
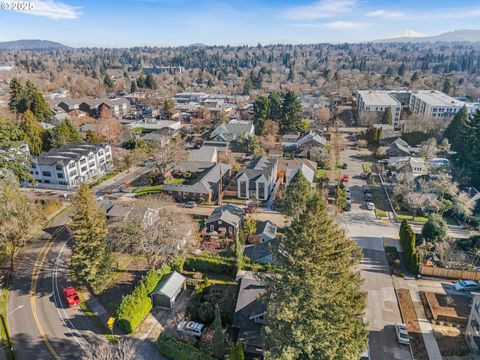
[[244,345],[244,351],[252,355],[263,355],[263,325],[267,313],[261,301],[265,286],[250,277],[240,279],[232,328],[237,341]]

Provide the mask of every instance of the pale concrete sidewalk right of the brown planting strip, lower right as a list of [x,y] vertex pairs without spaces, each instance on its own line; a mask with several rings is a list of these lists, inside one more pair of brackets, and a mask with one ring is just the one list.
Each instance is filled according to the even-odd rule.
[[410,296],[415,307],[418,323],[420,325],[420,329],[422,330],[423,341],[425,343],[425,347],[427,348],[428,358],[430,360],[441,359],[442,355],[440,353],[440,349],[438,348],[437,339],[433,333],[432,325],[425,315],[425,310],[423,308],[422,300],[420,299],[416,280],[405,280],[396,276],[392,276],[392,278],[396,289],[403,288],[409,289],[410,291]]

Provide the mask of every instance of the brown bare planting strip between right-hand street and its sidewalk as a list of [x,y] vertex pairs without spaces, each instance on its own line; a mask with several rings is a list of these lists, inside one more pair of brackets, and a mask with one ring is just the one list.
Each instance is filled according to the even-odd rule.
[[415,312],[415,307],[410,297],[410,291],[408,289],[397,289],[397,296],[400,312],[405,325],[407,325],[408,334],[410,335],[413,355],[416,360],[428,360],[427,349],[423,342],[422,330],[418,323],[417,313]]

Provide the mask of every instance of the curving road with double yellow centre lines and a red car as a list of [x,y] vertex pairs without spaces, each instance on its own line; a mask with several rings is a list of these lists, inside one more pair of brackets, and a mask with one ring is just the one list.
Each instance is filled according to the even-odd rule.
[[80,308],[67,308],[63,299],[71,252],[64,223],[70,213],[65,211],[46,229],[51,241],[25,250],[15,270],[8,323],[18,359],[80,359],[88,344],[101,338]]

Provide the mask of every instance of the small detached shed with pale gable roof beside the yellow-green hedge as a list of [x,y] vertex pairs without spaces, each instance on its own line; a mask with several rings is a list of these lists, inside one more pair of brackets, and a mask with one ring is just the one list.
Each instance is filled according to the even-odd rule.
[[150,294],[153,307],[173,309],[185,289],[185,277],[174,271],[166,275]]

